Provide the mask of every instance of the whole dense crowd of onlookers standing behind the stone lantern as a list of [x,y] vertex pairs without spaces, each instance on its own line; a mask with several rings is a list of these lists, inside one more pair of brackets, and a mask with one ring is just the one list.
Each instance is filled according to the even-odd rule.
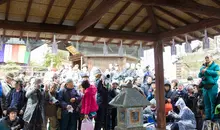
[[[204,120],[220,116],[219,67],[205,57],[199,78],[189,76],[187,84],[165,79],[166,121],[171,130],[202,129]],[[0,82],[1,130],[81,130],[82,120],[95,121],[94,130],[113,130],[117,109],[109,105],[124,87],[139,91],[150,106],[143,107],[144,123],[156,123],[156,85],[149,67],[110,64],[105,72],[87,65],[63,66],[57,72],[26,78],[25,73],[8,73]],[[207,88],[208,87],[208,88]],[[136,89],[136,90],[135,90]],[[132,97],[131,97],[132,98]]]

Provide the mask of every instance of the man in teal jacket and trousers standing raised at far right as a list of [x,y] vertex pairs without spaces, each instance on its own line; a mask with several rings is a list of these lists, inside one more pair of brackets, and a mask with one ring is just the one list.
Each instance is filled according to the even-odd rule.
[[211,55],[207,55],[199,73],[199,78],[202,79],[200,87],[203,87],[206,120],[214,120],[219,74],[219,66],[212,60]]

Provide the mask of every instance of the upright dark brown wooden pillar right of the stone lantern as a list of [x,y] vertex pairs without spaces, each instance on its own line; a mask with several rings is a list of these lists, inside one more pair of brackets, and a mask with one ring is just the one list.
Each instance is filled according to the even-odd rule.
[[165,130],[166,116],[164,98],[163,43],[161,41],[154,43],[154,59],[157,101],[157,130]]

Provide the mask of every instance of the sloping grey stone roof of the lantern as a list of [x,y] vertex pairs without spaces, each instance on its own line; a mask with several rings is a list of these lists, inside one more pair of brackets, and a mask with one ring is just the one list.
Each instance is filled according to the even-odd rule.
[[134,88],[124,88],[110,103],[115,107],[132,108],[150,105],[150,102]]

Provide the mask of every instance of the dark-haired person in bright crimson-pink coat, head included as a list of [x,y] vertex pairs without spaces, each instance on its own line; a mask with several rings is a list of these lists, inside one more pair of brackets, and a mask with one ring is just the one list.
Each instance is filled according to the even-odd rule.
[[95,97],[97,88],[91,85],[88,80],[83,81],[81,85],[84,93],[81,114],[84,115],[84,118],[94,118],[98,110],[98,104],[96,103]]

